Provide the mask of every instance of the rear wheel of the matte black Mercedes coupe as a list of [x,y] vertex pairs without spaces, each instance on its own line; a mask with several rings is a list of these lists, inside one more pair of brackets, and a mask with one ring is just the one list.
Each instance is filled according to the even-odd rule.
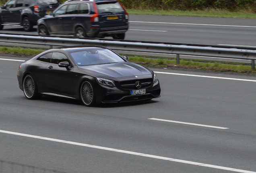
[[27,74],[23,80],[23,92],[29,100],[39,99],[42,95],[37,91],[37,84],[31,74]]

